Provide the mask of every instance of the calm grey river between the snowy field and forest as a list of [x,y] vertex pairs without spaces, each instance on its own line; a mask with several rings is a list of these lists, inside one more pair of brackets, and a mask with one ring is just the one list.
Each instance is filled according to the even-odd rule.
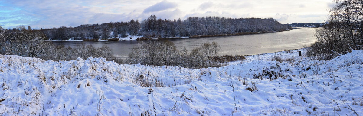
[[[316,41],[313,28],[296,28],[290,31],[269,32],[261,34],[249,34],[238,36],[219,36],[219,37],[198,37],[184,39],[168,39],[172,41],[176,48],[188,51],[206,43],[207,41],[216,41],[221,50],[219,55],[252,55],[262,53],[273,53],[284,49],[299,49],[304,45],[310,45]],[[158,40],[165,41],[165,40]],[[101,47],[107,45],[114,51],[116,57],[127,58],[133,46],[138,45],[140,41],[53,41],[55,45],[71,46],[77,44],[93,45]]]

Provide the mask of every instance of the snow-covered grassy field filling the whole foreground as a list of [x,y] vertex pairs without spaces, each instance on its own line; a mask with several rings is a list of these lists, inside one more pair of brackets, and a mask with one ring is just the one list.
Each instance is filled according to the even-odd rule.
[[363,50],[330,61],[275,55],[297,53],[200,70],[0,55],[0,115],[363,114]]

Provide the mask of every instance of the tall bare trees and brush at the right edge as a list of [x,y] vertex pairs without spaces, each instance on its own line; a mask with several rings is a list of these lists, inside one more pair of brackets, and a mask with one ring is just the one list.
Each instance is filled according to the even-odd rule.
[[333,0],[329,24],[315,28],[317,42],[308,49],[309,56],[323,55],[329,59],[352,49],[363,48],[363,1]]

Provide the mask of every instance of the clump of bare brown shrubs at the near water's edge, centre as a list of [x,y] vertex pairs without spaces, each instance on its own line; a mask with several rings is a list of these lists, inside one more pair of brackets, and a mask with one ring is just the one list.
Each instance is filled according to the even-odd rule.
[[213,58],[219,50],[220,46],[216,42],[204,43],[188,53],[186,49],[179,51],[170,41],[142,41],[132,48],[127,63],[188,68],[218,67],[221,64],[213,61]]

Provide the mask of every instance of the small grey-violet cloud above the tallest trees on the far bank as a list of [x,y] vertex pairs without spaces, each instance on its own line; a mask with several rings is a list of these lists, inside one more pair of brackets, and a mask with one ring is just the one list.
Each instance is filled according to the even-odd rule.
[[163,0],[160,3],[156,3],[152,6],[149,6],[148,8],[144,9],[143,13],[162,11],[162,10],[166,10],[166,9],[175,8],[176,6],[178,6],[176,3]]

